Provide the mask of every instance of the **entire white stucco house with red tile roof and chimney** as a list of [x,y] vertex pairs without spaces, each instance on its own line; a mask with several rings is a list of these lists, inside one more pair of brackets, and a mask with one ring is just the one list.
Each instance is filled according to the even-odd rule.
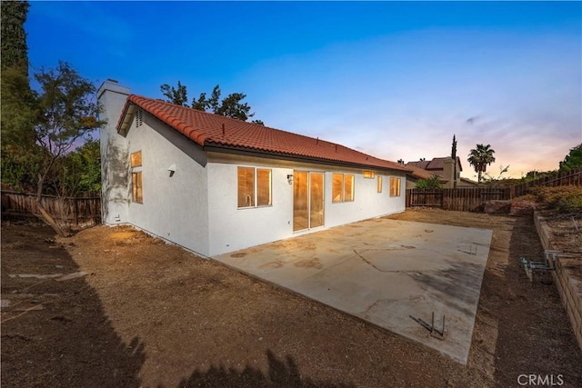
[[98,101],[105,224],[213,256],[405,210],[404,165],[113,80]]

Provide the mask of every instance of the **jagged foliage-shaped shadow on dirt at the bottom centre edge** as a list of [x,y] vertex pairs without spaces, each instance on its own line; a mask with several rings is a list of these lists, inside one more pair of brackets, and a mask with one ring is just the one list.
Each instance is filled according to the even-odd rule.
[[206,372],[196,370],[186,380],[178,386],[180,388],[197,386],[221,386],[221,387],[323,387],[323,388],[347,388],[354,387],[353,384],[329,383],[312,381],[309,378],[302,378],[293,357],[287,355],[286,360],[279,360],[270,350],[266,351],[269,363],[268,374],[246,366],[242,371],[225,366],[211,366]]

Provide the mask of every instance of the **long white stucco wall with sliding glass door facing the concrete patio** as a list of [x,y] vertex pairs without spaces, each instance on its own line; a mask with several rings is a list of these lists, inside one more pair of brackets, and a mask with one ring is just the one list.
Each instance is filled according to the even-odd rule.
[[[324,228],[352,223],[405,210],[404,175],[401,195],[390,197],[390,175],[383,176],[382,193],[377,193],[377,181],[364,178],[359,169],[336,168],[321,164],[296,163],[230,155],[210,158],[207,164],[208,214],[210,226],[210,255],[224,254],[257,244],[266,244],[312,233]],[[237,208],[237,167],[264,167],[272,170],[273,205],[256,208]],[[287,174],[295,170],[325,173],[325,225],[323,228],[293,232],[293,185]],[[355,174],[354,202],[332,203],[332,174]],[[377,176],[377,174],[376,174]]]

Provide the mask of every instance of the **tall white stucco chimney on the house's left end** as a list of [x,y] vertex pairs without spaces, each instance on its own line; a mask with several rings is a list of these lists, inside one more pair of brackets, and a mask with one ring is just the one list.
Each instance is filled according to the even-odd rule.
[[101,145],[101,219],[104,224],[127,222],[129,205],[128,146],[117,134],[117,122],[129,95],[129,88],[107,79],[97,90],[101,120],[107,123],[99,131]]

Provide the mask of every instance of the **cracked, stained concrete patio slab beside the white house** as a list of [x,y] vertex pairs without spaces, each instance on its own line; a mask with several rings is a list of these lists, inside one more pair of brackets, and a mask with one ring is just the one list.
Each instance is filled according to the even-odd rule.
[[[214,259],[467,363],[491,236],[379,218]],[[411,318],[433,312],[443,340]]]

